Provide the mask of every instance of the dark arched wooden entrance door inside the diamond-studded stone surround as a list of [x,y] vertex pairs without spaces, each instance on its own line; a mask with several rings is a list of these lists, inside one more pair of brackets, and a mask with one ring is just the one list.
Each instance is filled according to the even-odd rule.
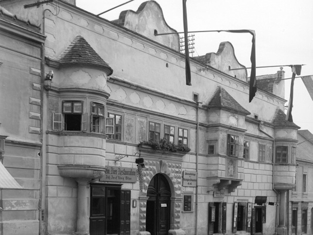
[[147,191],[146,231],[167,235],[170,230],[171,188],[162,174],[156,174]]

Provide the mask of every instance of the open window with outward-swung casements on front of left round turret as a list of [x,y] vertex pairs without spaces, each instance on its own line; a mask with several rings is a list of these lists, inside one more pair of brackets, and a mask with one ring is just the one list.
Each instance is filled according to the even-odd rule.
[[87,113],[83,113],[82,101],[64,101],[62,113],[53,113],[53,130],[86,131]]

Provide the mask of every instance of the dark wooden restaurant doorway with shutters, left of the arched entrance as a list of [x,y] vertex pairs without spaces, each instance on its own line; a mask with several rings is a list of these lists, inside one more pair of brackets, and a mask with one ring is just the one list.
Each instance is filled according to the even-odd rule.
[[129,235],[130,190],[100,184],[90,188],[90,235]]

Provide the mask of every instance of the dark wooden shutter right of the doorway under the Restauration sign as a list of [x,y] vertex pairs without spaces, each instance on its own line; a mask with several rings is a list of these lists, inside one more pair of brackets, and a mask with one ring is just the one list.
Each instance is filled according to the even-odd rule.
[[130,190],[121,190],[120,234],[130,235]]

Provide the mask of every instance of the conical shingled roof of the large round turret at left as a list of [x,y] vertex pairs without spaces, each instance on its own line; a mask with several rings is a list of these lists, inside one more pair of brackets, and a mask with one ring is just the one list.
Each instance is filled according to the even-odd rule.
[[107,72],[107,75],[113,73],[112,68],[93,50],[82,36],[76,36],[70,46],[60,56],[60,67],[77,65],[104,70]]

